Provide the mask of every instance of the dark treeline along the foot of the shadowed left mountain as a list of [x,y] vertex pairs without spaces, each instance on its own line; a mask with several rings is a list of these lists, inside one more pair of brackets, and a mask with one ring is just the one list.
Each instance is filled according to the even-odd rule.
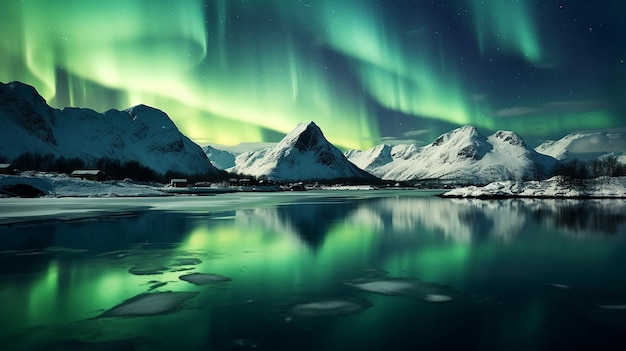
[[[2,160],[2,158],[0,158]],[[6,161],[5,161],[6,162]],[[40,155],[26,152],[15,158],[11,165],[21,170],[37,170],[43,172],[58,172],[71,174],[77,169],[97,169],[106,174],[107,179],[122,180],[130,178],[140,182],[167,183],[173,178],[187,178],[190,182],[216,181],[227,179],[226,172],[218,174],[184,174],[179,172],[167,172],[160,174],[152,168],[146,167],[137,161],[120,161],[110,158],[99,158],[96,161],[87,162],[78,157],[57,157],[52,154]]]

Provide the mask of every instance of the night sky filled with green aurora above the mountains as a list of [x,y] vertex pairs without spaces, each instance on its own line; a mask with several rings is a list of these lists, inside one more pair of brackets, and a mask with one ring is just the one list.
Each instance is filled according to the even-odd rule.
[[0,81],[54,107],[140,103],[201,145],[315,121],[344,149],[471,124],[530,146],[626,132],[623,0],[0,2]]

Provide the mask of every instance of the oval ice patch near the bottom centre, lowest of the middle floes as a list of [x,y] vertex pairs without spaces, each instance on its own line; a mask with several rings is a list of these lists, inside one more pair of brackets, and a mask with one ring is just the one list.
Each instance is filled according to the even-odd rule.
[[291,306],[287,314],[290,317],[338,317],[364,311],[373,304],[362,299],[325,299],[298,303]]

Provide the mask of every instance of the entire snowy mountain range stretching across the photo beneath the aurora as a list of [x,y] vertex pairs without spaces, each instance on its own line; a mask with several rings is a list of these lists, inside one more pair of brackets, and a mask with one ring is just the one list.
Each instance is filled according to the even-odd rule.
[[574,133],[533,149],[514,132],[484,136],[463,126],[421,147],[381,144],[342,153],[309,122],[298,124],[275,146],[232,153],[201,148],[167,114],[149,106],[104,113],[54,109],[29,85],[0,84],[0,157],[9,161],[30,152],[85,161],[138,161],[161,174],[227,170],[276,181],[381,178],[482,184],[547,176],[555,164],[574,158],[614,155],[624,162],[624,149],[618,134]]

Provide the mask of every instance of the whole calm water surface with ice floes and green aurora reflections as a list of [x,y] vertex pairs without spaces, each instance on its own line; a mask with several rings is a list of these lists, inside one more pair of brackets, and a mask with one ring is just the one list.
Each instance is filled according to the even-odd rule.
[[4,199],[0,348],[626,349],[624,201],[430,195]]

